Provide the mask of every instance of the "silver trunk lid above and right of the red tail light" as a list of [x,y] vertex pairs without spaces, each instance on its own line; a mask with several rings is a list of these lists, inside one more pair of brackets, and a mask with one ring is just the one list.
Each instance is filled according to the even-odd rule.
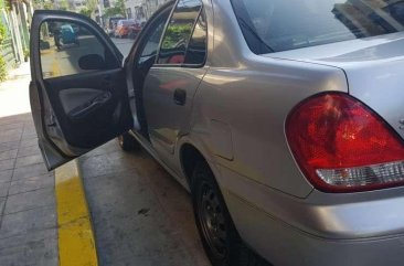
[[311,46],[264,56],[344,71],[349,93],[382,116],[404,138],[404,33]]

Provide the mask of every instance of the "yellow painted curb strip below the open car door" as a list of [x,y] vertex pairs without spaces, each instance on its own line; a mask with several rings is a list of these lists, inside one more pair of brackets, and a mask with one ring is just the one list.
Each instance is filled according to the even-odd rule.
[[97,266],[97,251],[76,161],[55,170],[59,265]]

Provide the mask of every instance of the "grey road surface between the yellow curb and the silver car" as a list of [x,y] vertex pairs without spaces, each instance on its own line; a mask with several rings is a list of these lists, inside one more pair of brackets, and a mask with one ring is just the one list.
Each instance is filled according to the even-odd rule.
[[100,266],[210,266],[191,198],[145,150],[81,157]]

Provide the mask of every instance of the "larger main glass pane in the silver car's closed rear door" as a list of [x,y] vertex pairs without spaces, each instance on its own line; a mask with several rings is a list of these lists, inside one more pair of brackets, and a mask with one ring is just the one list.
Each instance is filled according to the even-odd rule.
[[193,25],[201,11],[200,0],[180,0],[162,40],[159,64],[182,64]]

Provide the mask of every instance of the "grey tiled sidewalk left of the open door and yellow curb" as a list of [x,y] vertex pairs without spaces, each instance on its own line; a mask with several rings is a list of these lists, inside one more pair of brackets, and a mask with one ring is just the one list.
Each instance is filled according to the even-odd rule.
[[54,175],[42,162],[29,104],[30,65],[0,84],[0,265],[57,265]]

